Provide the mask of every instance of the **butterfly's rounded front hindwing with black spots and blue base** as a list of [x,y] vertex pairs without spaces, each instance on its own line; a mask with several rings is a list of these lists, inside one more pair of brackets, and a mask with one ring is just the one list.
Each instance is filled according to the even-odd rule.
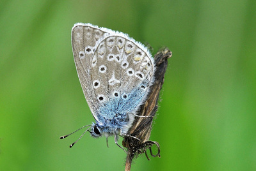
[[114,114],[135,112],[145,101],[154,80],[154,59],[141,43],[123,33],[105,35],[91,64],[98,117],[112,119]]

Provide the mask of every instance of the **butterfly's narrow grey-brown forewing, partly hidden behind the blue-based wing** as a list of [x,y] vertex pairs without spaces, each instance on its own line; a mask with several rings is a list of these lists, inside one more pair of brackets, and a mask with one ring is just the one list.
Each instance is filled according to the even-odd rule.
[[91,79],[91,61],[96,42],[104,35],[111,33],[110,29],[93,26],[92,24],[77,23],[72,28],[72,49],[74,61],[76,64],[77,75],[83,89],[86,101],[92,111],[93,117],[98,120],[95,115],[95,93],[92,93]]

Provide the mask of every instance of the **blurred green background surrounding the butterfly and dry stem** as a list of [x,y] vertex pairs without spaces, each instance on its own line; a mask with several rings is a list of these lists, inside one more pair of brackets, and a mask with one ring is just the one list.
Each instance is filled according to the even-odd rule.
[[76,22],[173,52],[150,137],[161,158],[132,170],[256,170],[255,0],[0,1],[0,170],[124,170],[112,138],[59,139],[94,121]]

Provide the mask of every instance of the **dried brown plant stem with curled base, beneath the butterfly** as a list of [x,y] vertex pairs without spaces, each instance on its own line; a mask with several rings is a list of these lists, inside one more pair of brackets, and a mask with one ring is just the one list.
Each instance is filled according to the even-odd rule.
[[[144,153],[147,158],[147,149],[150,149],[150,154],[153,157],[160,157],[160,146],[157,142],[149,141],[150,133],[152,130],[152,122],[154,115],[157,111],[157,100],[159,98],[159,91],[162,88],[164,82],[164,73],[168,66],[167,59],[172,56],[172,52],[168,48],[164,48],[163,50],[159,50],[157,54],[154,56],[156,72],[155,72],[155,80],[154,84],[150,87],[150,94],[148,94],[148,100],[144,105],[141,105],[140,112],[138,115],[143,116],[153,116],[153,117],[136,117],[134,124],[128,131],[128,135],[132,137],[125,137],[123,140],[123,146],[127,148],[127,157],[125,162],[125,171],[131,170],[131,164],[134,157],[138,156],[138,154]],[[156,145],[158,148],[157,154],[153,154],[151,147],[152,145]],[[148,158],[149,160],[149,158]]]

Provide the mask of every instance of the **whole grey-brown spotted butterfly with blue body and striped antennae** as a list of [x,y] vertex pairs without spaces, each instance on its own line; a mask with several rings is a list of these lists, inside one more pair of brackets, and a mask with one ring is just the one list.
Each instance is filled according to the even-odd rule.
[[78,130],[89,126],[92,137],[104,136],[108,145],[108,137],[114,136],[118,145],[118,135],[132,137],[127,131],[134,118],[145,117],[138,108],[154,82],[154,59],[144,45],[118,31],[77,23],[71,35],[77,75],[95,119]]

